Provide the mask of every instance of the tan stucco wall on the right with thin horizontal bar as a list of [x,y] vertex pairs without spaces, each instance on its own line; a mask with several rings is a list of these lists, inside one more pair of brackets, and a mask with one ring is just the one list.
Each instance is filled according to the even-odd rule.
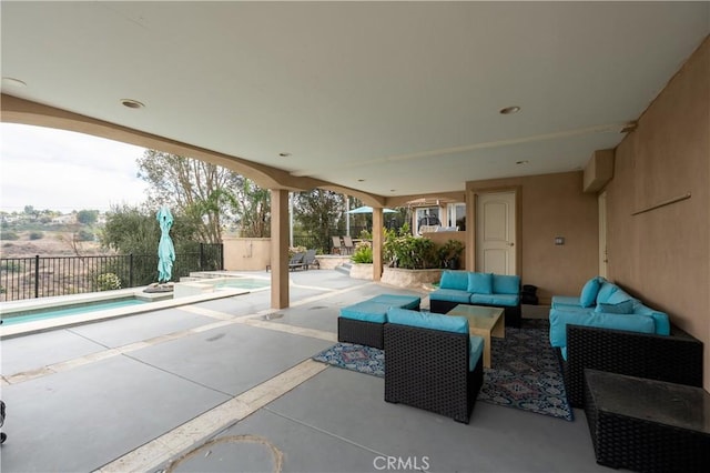
[[[609,278],[704,343],[710,386],[710,40],[617,148],[607,185]],[[690,199],[631,213],[690,193]]]

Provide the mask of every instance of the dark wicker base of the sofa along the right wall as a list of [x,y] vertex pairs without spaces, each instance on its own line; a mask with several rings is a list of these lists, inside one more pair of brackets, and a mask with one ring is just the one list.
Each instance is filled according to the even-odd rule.
[[668,336],[567,325],[567,361],[557,353],[575,407],[585,404],[585,369],[702,388],[702,342],[673,325]]

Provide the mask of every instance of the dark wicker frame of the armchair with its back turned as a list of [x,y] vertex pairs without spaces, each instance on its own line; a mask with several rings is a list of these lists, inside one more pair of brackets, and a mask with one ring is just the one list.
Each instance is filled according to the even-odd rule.
[[385,401],[468,423],[484,382],[468,370],[468,334],[385,324]]

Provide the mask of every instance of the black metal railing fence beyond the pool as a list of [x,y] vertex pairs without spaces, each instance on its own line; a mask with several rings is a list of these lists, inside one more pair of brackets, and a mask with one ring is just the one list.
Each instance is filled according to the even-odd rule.
[[[192,271],[224,269],[222,244],[175,255],[172,281]],[[158,254],[106,256],[33,256],[0,260],[0,300],[80,294],[158,282]]]

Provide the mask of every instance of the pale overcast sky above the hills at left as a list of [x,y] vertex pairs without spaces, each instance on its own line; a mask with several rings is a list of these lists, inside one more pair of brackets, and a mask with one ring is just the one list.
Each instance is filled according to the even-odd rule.
[[87,134],[0,123],[0,210],[109,210],[145,201],[144,149]]

